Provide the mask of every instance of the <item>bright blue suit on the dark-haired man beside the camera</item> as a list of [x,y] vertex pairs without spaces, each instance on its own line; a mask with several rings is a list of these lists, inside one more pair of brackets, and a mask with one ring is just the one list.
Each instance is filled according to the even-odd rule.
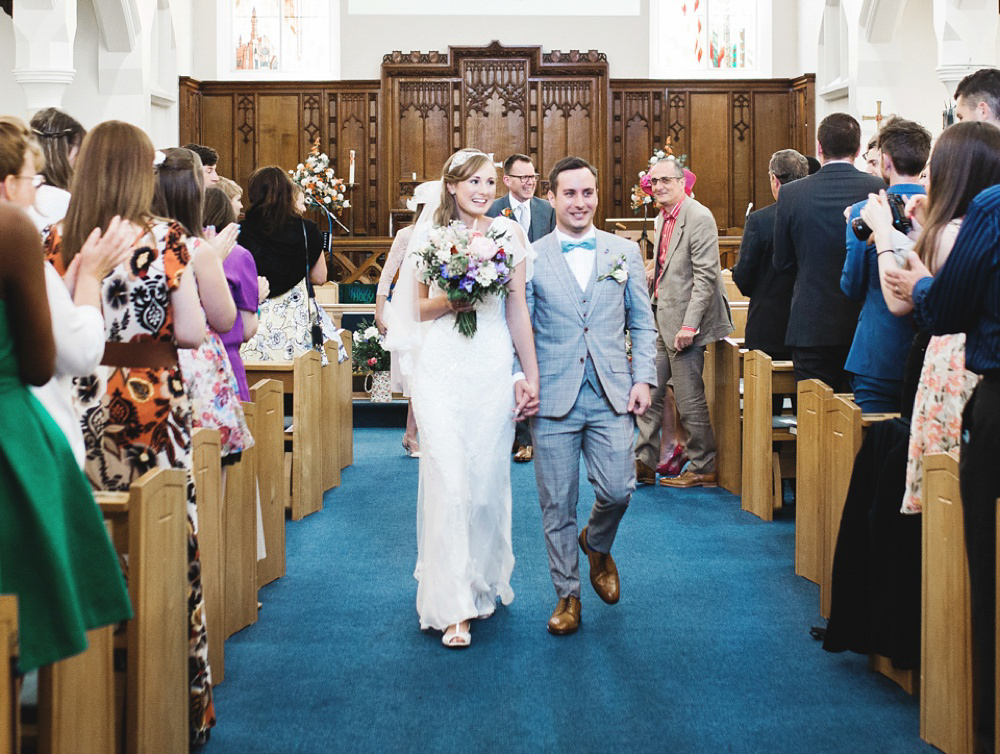
[[[890,194],[923,194],[924,187],[917,183],[899,183],[890,186]],[[851,219],[861,215],[865,201],[851,207]],[[864,301],[858,329],[844,369],[852,374],[882,380],[902,380],[903,367],[913,342],[913,317],[893,316],[885,304],[882,284],[878,274],[878,257],[875,245],[859,241],[850,223],[847,226],[847,258],[840,276],[840,289],[852,301]]]

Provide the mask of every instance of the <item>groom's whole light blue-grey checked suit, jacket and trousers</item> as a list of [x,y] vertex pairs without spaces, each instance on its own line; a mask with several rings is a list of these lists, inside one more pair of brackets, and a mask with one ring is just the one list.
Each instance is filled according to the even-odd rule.
[[[580,455],[597,496],[587,541],[608,553],[635,489],[635,419],[626,409],[635,383],[655,386],[656,325],[642,258],[632,241],[597,231],[586,290],[554,232],[534,249],[538,257],[527,297],[541,376],[540,408],[531,426],[535,478],[556,593],[579,597]],[[610,276],[616,266],[628,270],[624,282]]]

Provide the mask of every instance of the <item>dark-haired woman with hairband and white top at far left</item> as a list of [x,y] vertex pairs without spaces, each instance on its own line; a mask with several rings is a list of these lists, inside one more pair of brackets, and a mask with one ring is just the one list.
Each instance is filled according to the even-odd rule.
[[66,216],[73,163],[87,131],[75,118],[55,107],[35,113],[31,129],[45,156],[45,167],[39,171],[45,183],[38,187],[28,214],[41,230]]

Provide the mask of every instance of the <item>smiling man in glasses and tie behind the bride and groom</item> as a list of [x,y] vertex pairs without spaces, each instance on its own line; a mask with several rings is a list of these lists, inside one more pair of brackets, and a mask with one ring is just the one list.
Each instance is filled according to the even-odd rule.
[[[532,243],[555,229],[556,215],[552,205],[535,196],[538,174],[528,155],[512,154],[504,160],[503,183],[507,187],[507,195],[493,202],[486,212],[487,217],[501,214],[510,217],[524,228]],[[513,452],[517,463],[526,463],[532,459],[534,449],[528,422],[517,423]]]

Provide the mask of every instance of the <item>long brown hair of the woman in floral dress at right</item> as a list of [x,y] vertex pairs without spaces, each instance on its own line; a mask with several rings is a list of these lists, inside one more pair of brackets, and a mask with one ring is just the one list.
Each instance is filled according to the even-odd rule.
[[927,221],[914,251],[931,272],[941,230],[964,217],[983,189],[1000,183],[1000,128],[985,121],[962,121],[938,137],[931,152]]

